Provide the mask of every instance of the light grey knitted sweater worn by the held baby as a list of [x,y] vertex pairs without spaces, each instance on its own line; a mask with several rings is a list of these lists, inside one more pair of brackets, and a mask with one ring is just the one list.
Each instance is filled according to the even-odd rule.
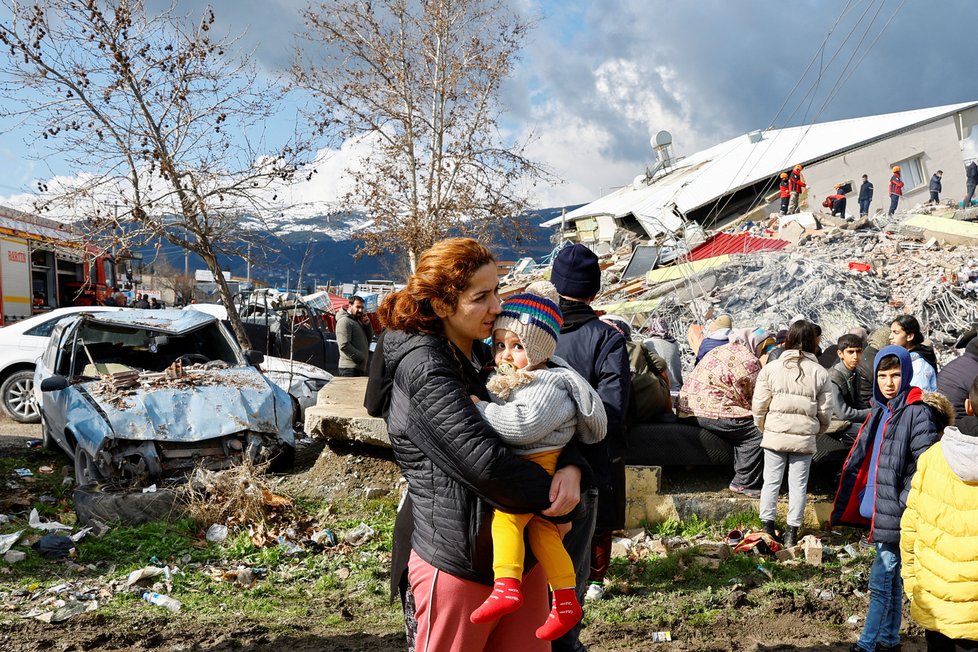
[[597,392],[562,359],[550,362],[557,366],[530,372],[533,380],[513,389],[505,403],[476,404],[517,455],[557,450],[575,436],[583,444],[595,444],[608,431]]

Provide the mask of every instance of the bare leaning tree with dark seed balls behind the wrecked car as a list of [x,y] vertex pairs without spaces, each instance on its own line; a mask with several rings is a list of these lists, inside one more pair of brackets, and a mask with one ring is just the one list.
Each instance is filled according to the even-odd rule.
[[165,238],[197,254],[248,347],[218,255],[240,252],[298,170],[302,148],[263,142],[277,84],[232,56],[210,9],[194,19],[173,5],[151,15],[143,0],[0,1],[0,112],[79,171],[40,184],[38,210],[83,217],[123,246]]

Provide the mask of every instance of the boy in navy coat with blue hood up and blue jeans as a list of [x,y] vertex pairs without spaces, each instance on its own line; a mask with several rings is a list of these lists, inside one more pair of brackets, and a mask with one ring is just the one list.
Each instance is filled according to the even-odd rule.
[[902,346],[890,345],[876,354],[874,377],[873,411],[842,467],[832,508],[833,524],[868,526],[869,540],[876,545],[869,610],[851,648],[855,652],[900,649],[900,517],[917,458],[937,441],[941,424],[950,418],[936,407],[940,395],[910,386],[913,362]]

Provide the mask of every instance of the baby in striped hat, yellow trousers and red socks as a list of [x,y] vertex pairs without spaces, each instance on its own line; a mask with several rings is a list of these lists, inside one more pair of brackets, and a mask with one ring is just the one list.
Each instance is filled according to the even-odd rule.
[[[547,282],[531,284],[507,299],[496,317],[492,347],[496,373],[487,384],[501,403],[472,401],[514,452],[553,474],[560,450],[573,437],[585,444],[604,439],[607,417],[597,393],[560,358],[554,358],[563,322],[559,297]],[[549,363],[549,364],[548,364]],[[533,514],[496,511],[492,521],[493,591],[472,612],[486,623],[520,608],[523,597],[523,530],[553,590],[553,607],[537,638],[552,641],[581,619],[574,565],[557,526]]]

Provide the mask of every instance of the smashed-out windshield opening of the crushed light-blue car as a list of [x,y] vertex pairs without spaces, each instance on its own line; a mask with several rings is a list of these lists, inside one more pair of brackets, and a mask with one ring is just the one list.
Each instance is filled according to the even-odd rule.
[[172,334],[86,321],[78,327],[68,347],[58,371],[69,376],[95,378],[120,371],[162,372],[178,359],[188,365],[215,360],[227,365],[241,364],[217,322]]

